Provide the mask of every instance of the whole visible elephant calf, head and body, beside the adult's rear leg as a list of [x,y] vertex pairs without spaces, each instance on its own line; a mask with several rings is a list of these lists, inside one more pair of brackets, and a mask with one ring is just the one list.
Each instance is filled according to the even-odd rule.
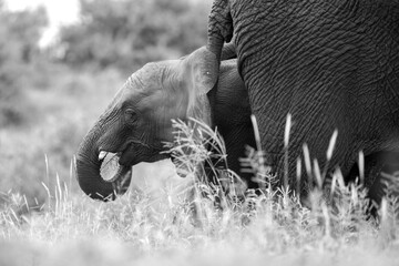
[[[226,45],[223,58],[235,57]],[[141,162],[155,162],[170,154],[164,142],[173,141],[171,119],[192,116],[216,125],[225,140],[227,164],[254,186],[241,172],[239,157],[245,145],[255,145],[248,95],[236,61],[222,62],[205,48],[180,59],[147,63],[133,73],[90,130],[76,154],[78,181],[92,198],[109,201],[129,187],[131,167]],[[206,93],[218,79],[217,93],[209,101]],[[119,170],[105,181],[101,166],[106,153],[116,153]]]

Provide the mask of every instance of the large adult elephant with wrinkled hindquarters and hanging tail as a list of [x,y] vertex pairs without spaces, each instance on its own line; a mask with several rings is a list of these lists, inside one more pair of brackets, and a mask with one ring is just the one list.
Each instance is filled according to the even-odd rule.
[[398,1],[214,1],[207,48],[218,60],[234,33],[238,72],[279,176],[287,113],[290,181],[304,143],[325,167],[336,129],[328,170],[339,165],[344,176],[360,150],[368,156],[398,147]]

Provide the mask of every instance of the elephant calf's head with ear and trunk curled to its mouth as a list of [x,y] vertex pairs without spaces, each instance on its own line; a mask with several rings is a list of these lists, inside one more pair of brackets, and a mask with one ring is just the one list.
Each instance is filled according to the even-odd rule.
[[[79,149],[81,188],[92,198],[114,200],[127,190],[133,165],[165,157],[160,152],[163,142],[173,140],[172,119],[193,116],[209,123],[206,93],[216,83],[217,68],[214,54],[202,48],[133,73]],[[116,154],[119,170],[105,181],[100,170],[109,153]]]

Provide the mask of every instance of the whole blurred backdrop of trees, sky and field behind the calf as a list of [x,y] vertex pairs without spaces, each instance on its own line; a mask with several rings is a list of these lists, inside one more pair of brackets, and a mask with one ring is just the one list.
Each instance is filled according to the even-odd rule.
[[[206,44],[212,1],[0,0],[0,203],[42,203],[125,79]],[[32,203],[30,203],[32,204]]]

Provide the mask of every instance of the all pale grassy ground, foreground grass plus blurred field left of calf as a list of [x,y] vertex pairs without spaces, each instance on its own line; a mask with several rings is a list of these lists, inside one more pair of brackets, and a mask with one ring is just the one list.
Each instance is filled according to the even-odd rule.
[[30,123],[0,130],[0,265],[398,265],[396,201],[367,221],[365,193],[339,178],[338,208],[316,191],[309,211],[280,190],[215,207],[215,195],[200,197],[204,186],[164,161],[135,167],[115,202],[88,198],[72,156],[124,76],[52,78],[27,90]]

